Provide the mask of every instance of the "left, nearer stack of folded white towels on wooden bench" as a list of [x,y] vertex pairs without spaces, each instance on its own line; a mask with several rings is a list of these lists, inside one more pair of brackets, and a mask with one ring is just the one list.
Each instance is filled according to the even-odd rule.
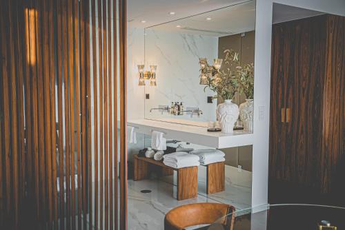
[[163,156],[163,159],[164,165],[168,165],[175,169],[200,165],[199,156],[188,154],[182,151],[178,151],[172,154],[166,154]]

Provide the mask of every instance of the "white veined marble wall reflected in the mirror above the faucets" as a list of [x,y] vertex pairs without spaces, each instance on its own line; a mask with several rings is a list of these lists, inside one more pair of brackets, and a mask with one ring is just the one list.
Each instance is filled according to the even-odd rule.
[[[215,93],[199,85],[199,58],[206,57],[210,63],[218,55],[218,39],[215,36],[201,36],[161,30],[145,30],[145,64],[157,65],[157,87],[145,86],[150,99],[145,100],[145,118],[174,118],[194,121],[215,121],[217,100],[207,103],[207,96]],[[158,110],[159,105],[182,102],[186,107],[199,107],[200,117],[185,114],[173,116]]]

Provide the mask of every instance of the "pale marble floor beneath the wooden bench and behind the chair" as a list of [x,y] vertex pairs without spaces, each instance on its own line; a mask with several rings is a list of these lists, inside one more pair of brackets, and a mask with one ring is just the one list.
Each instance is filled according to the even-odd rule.
[[[226,190],[206,194],[206,167],[198,170],[198,196],[176,200],[176,173],[174,176],[150,180],[128,180],[128,229],[164,229],[164,216],[172,208],[194,202],[223,202],[237,209],[250,207],[251,172],[226,166]],[[149,189],[150,193],[141,193]]]

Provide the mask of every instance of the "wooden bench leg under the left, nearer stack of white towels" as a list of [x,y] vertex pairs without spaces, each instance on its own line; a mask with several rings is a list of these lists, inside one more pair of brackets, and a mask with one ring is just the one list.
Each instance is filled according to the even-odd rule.
[[177,200],[197,197],[197,166],[177,169]]

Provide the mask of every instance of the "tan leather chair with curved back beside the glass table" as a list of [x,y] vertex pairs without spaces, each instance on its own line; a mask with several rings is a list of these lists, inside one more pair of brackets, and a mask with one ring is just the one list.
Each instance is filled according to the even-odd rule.
[[[183,230],[199,224],[212,224],[233,211],[235,207],[219,203],[181,205],[166,213],[164,230]],[[221,222],[225,229],[233,229],[233,218],[224,218]]]

